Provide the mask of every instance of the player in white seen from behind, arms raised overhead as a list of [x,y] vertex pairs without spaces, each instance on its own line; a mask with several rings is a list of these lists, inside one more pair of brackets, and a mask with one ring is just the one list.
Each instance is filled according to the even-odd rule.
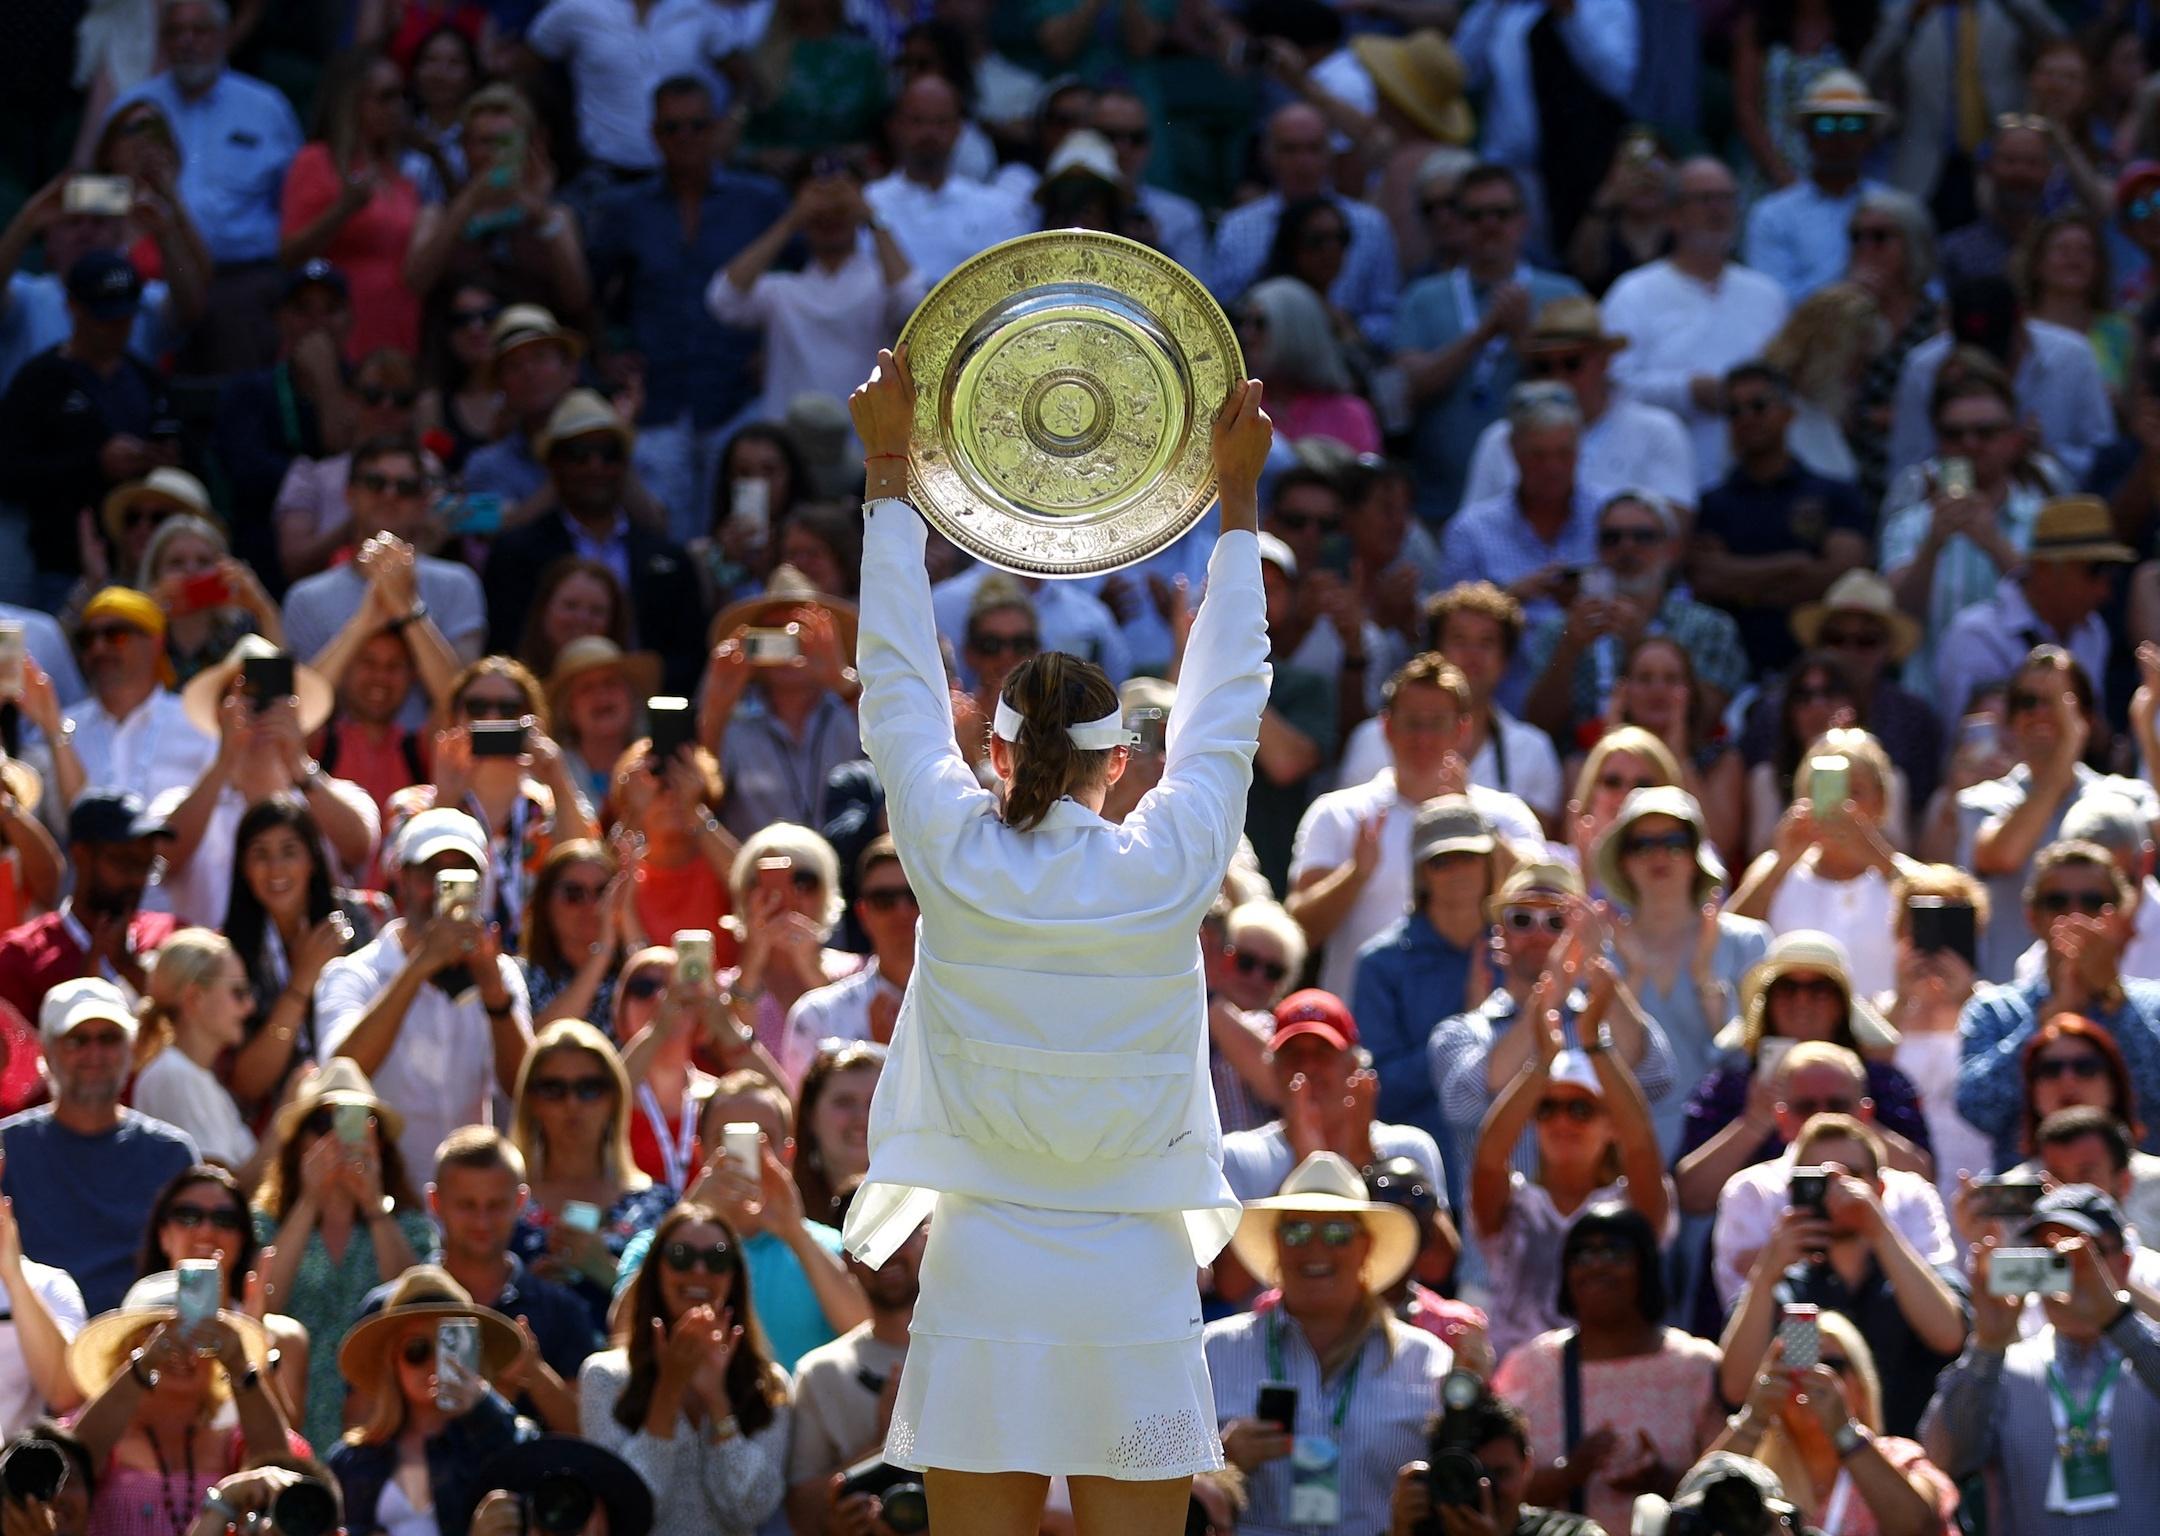
[[1257,382],[1214,423],[1223,536],[1162,782],[1112,825],[1117,689],[1043,652],[1007,678],[985,791],[953,739],[927,529],[907,495],[914,382],[881,352],[851,402],[868,464],[862,737],[922,922],[870,1106],[847,1244],[877,1266],[931,1210],[886,1460],[931,1523],[1037,1530],[1065,1473],[1082,1536],[1179,1530],[1223,1465],[1194,1266],[1238,1201],[1207,1078],[1199,927],[1238,847],[1268,696]]

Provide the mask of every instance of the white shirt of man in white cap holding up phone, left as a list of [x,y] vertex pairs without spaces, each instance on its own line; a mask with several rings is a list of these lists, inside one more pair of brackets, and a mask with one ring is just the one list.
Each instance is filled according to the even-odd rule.
[[[374,942],[339,955],[315,981],[318,1054],[324,1065],[346,1050],[369,1005],[382,996],[406,964],[404,920],[387,925]],[[495,959],[510,994],[518,1026],[531,1030],[534,1011],[525,998],[525,976],[508,955]],[[384,1104],[406,1117],[397,1151],[408,1169],[432,1169],[434,1149],[458,1126],[495,1123],[495,1035],[477,992],[460,998],[426,981],[406,1009],[382,1065],[367,1074]]]

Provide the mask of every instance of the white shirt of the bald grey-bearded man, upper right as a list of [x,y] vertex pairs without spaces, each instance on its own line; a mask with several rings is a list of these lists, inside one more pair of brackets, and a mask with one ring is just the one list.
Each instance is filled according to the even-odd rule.
[[1635,400],[1680,417],[1696,447],[1696,484],[1715,486],[1732,464],[1726,419],[1696,406],[1693,378],[1724,378],[1763,352],[1784,324],[1788,300],[1776,281],[1728,261],[1700,283],[1672,261],[1626,272],[1605,294],[1605,324],[1629,346],[1614,354],[1614,380]]

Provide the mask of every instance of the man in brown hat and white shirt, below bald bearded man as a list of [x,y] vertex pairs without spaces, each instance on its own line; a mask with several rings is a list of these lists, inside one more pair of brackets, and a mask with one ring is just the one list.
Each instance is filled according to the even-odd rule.
[[[1696,460],[1687,428],[1663,406],[1644,404],[1614,389],[1611,359],[1626,337],[1605,331],[1596,300],[1581,294],[1551,298],[1518,343],[1523,378],[1553,380],[1575,393],[1583,413],[1581,471],[1592,486],[1633,486],[1674,508],[1696,506]],[[1462,503],[1516,488],[1521,471],[1508,452],[1508,428],[1493,421],[1477,434]]]

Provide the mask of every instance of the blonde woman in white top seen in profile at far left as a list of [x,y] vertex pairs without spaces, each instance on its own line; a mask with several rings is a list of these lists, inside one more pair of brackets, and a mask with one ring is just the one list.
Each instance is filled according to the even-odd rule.
[[138,1039],[151,1052],[136,1072],[134,1106],[179,1126],[212,1162],[253,1184],[261,1171],[255,1132],[214,1067],[238,1050],[255,1013],[248,968],[222,933],[181,929],[164,942],[149,972]]

